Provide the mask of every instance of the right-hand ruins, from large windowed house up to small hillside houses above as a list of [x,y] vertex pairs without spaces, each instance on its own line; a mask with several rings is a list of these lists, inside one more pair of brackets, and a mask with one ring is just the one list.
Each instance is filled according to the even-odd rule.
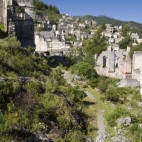
[[[130,47],[120,49],[119,42],[124,38],[121,36],[122,26],[112,27],[106,24],[106,31],[102,34],[108,37],[107,51],[103,51],[99,56],[95,55],[96,71],[99,75],[122,79],[117,85],[119,87],[138,87],[142,93],[142,52],[135,51],[133,60],[129,57]],[[133,46],[142,43],[137,33],[128,33],[133,39]],[[137,43],[135,42],[137,41]]]

